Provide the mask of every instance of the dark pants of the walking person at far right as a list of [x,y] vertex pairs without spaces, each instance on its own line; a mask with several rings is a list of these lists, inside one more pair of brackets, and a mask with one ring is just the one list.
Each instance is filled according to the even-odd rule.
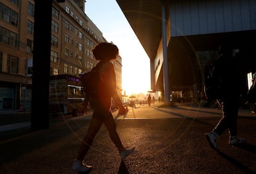
[[222,113],[220,121],[213,129],[218,135],[221,135],[226,129],[229,130],[230,136],[237,135],[237,116],[239,101],[237,98],[230,98],[221,101]]

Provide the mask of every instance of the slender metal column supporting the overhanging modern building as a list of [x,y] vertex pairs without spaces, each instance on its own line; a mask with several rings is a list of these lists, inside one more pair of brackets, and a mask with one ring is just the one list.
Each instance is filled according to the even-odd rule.
[[163,85],[164,85],[164,103],[169,103],[169,73],[168,73],[168,55],[166,41],[166,12],[164,1],[161,1],[162,12],[162,39],[163,39]]

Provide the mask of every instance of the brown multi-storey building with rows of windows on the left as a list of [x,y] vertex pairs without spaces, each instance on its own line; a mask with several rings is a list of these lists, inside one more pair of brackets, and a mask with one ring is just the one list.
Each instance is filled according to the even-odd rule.
[[[30,109],[34,14],[33,0],[0,0],[0,110]],[[98,63],[92,48],[100,42],[106,39],[85,14],[84,0],[53,1],[51,75],[90,71]],[[113,64],[121,90],[121,57]]]

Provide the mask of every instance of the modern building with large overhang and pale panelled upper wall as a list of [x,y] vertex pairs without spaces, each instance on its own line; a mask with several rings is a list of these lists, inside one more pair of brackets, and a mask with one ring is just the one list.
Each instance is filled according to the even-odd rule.
[[224,42],[241,55],[245,77],[255,73],[256,1],[116,1],[150,58],[151,89],[164,101],[203,98],[205,72]]

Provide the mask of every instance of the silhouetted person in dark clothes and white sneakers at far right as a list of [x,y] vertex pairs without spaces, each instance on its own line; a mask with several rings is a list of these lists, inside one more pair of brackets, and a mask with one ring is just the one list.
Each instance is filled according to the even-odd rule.
[[[218,149],[217,140],[222,133],[229,130],[229,144],[236,145],[245,142],[244,138],[237,137],[237,116],[239,108],[240,87],[238,65],[232,56],[229,45],[220,45],[220,57],[215,62],[211,72],[215,84],[215,99],[221,103],[223,116],[212,132],[205,133],[211,148]],[[216,92],[218,90],[218,92]]]

